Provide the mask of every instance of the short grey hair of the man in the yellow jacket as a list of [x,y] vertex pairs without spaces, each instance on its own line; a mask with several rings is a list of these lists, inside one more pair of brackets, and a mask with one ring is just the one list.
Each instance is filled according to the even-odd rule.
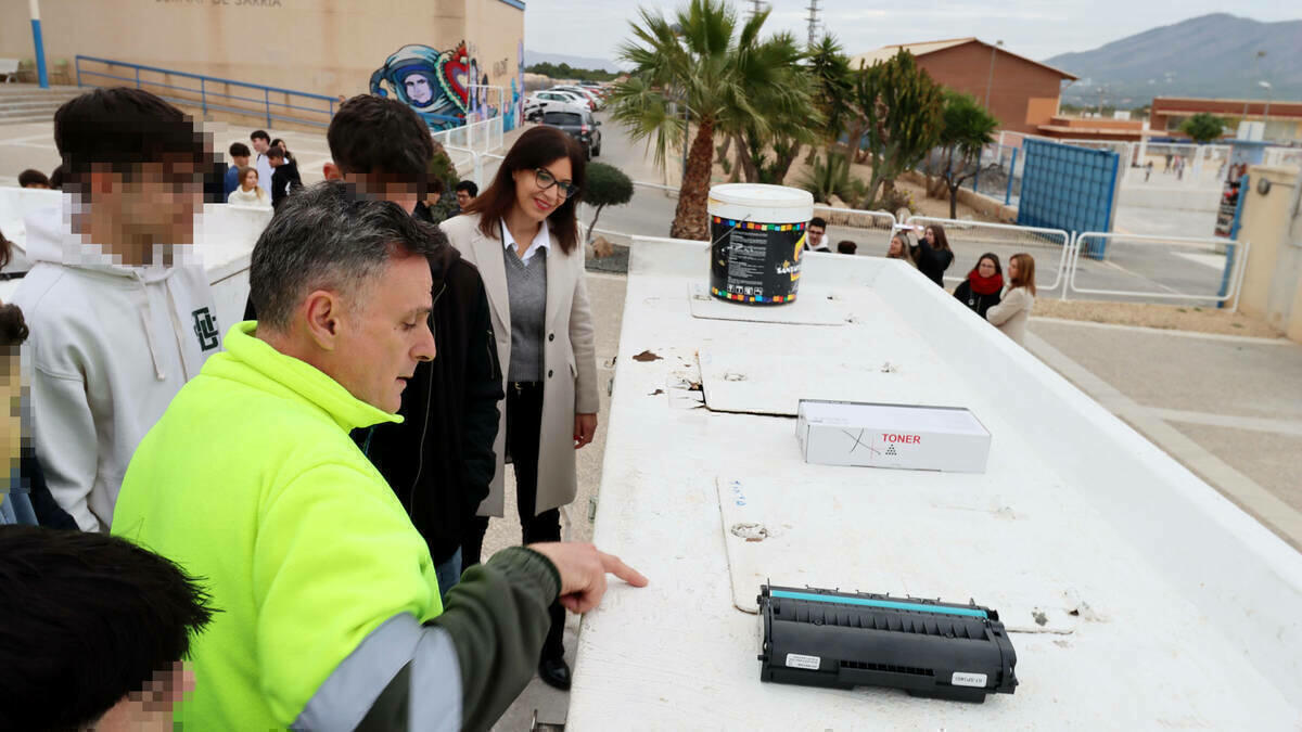
[[398,204],[367,201],[349,184],[320,182],[289,195],[253,249],[249,298],[258,322],[284,331],[307,294],[354,302],[397,253],[426,258],[448,240]]

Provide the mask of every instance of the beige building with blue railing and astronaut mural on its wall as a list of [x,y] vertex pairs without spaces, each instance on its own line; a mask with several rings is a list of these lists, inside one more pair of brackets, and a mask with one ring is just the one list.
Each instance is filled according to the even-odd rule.
[[[83,85],[134,85],[134,68],[79,55],[331,99],[381,89],[434,126],[509,112],[523,86],[519,0],[42,0],[40,13],[47,64],[69,83],[79,65]],[[27,4],[0,4],[0,57],[33,55]],[[182,99],[199,91],[176,74],[145,70],[142,82]],[[210,81],[202,92],[215,107],[266,94]]]

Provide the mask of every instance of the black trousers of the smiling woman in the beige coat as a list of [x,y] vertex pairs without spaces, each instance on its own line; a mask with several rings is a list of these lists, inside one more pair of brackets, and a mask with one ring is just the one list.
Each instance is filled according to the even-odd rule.
[[[551,508],[534,516],[538,503],[538,439],[543,426],[542,382],[506,383],[506,455],[516,466],[516,507],[519,512],[521,542],[559,542],[561,538],[561,512]],[[461,547],[462,567],[479,564],[483,552],[488,517],[478,516]],[[548,608],[552,626],[543,642],[542,659],[565,655],[565,608],[553,602]]]

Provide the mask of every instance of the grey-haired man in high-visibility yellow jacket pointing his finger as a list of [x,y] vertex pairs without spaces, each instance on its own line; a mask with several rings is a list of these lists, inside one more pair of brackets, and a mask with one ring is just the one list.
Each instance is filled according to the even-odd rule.
[[349,431],[400,419],[434,358],[427,257],[447,246],[342,184],[286,199],[250,271],[259,320],[186,384],[133,457],[113,533],[199,577],[219,610],[191,650],[186,729],[482,729],[533,675],[560,594],[594,607],[591,546],[471,568],[444,610],[435,565]]

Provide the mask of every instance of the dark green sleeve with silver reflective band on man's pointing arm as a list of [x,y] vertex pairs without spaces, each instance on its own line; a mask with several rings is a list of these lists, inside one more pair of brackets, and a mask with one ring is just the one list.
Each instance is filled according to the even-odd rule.
[[534,675],[560,574],[508,548],[471,567],[443,615],[409,613],[368,634],[294,720],[296,729],[488,729]]

